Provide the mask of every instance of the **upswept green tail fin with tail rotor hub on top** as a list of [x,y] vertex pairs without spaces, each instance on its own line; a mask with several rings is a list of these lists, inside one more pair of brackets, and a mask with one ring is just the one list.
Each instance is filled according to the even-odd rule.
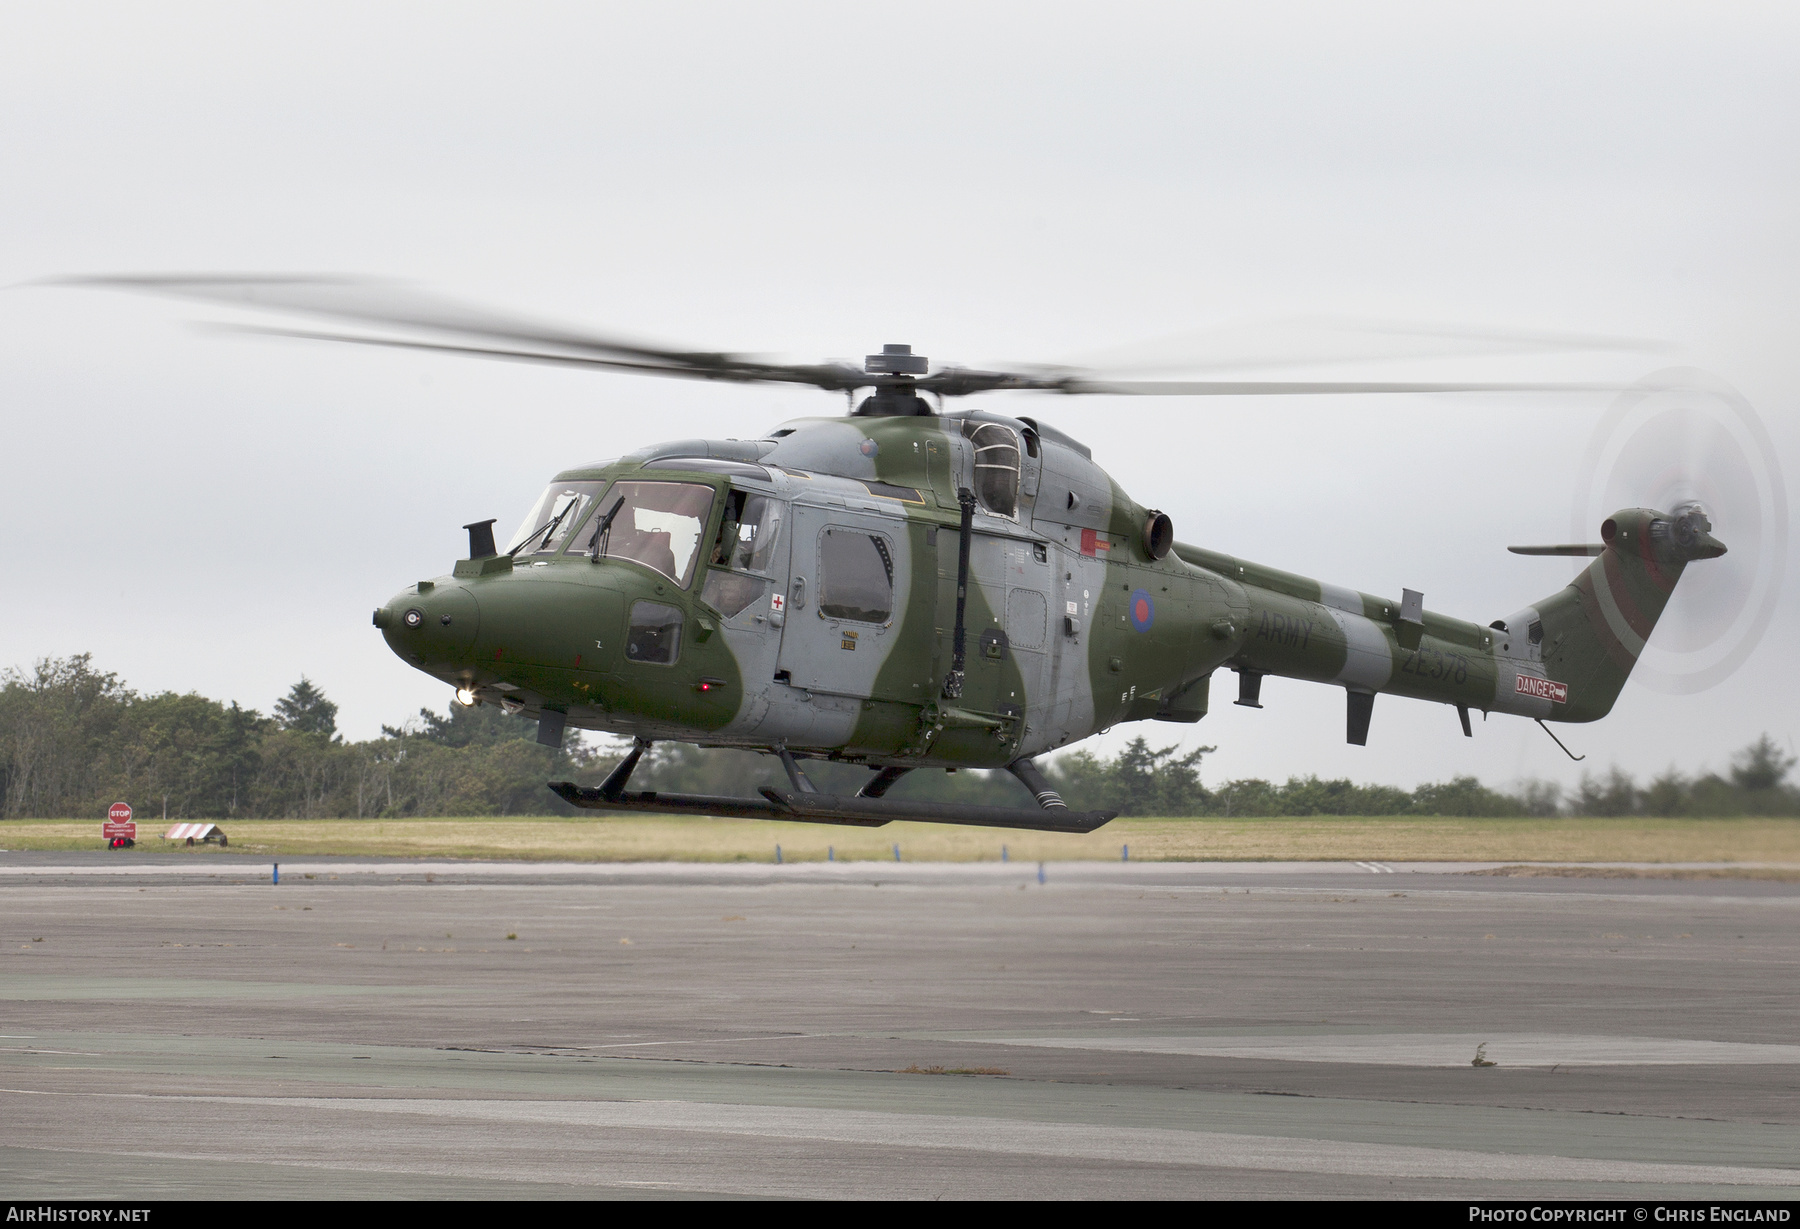
[[[1627,507],[1607,516],[1600,538],[1604,549],[1573,583],[1525,612],[1544,675],[1568,687],[1546,714],[1553,722],[1597,722],[1611,713],[1681,572],[1694,560],[1724,554],[1697,506],[1676,513]],[[1508,630],[1526,628],[1508,621]]]

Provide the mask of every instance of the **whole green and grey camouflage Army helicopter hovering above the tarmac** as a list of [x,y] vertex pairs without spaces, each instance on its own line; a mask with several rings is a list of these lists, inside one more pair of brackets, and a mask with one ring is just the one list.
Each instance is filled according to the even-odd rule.
[[[1685,567],[1724,554],[1697,504],[1625,507],[1568,587],[1489,624],[1429,612],[1175,540],[1093,452],[1040,417],[945,408],[997,390],[1319,394],[1550,390],[1595,385],[1118,381],[1071,369],[932,371],[909,345],[862,367],[691,353],[526,322],[380,284],[311,277],[106,277],[151,290],[398,326],[419,336],[256,329],[733,383],[810,385],[848,416],[754,439],[679,439],[554,475],[518,529],[468,531],[468,558],[405,587],[374,626],[409,666],[535,718],[634,740],[576,806],[878,826],[893,819],[1091,831],[1035,758],[1121,722],[1199,722],[1220,669],[1262,707],[1267,675],[1341,687],[1345,736],[1368,740],[1377,695],[1537,722],[1606,716]],[[855,396],[862,392],[862,399]],[[931,399],[927,399],[931,398]],[[1548,729],[1548,727],[1546,727]],[[779,758],[761,797],[630,790],[655,741]],[[821,794],[805,761],[869,768]],[[1031,804],[886,797],[916,768],[1004,768]]]

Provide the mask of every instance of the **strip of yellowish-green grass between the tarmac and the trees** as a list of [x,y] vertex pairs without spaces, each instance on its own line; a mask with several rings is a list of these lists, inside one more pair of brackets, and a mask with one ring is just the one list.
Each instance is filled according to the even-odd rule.
[[[248,819],[230,848],[166,844],[166,857],[445,857],[572,862],[1775,862],[1800,866],[1800,819],[1116,819],[1087,837],[947,824],[830,828],[752,819]],[[95,821],[0,821],[0,849],[101,849]]]

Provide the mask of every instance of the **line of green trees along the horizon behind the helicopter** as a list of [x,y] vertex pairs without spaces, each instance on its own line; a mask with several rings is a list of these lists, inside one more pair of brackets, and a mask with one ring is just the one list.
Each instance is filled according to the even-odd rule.
[[[419,709],[380,738],[346,741],[337,705],[308,678],[268,714],[200,695],[139,695],[86,653],[0,673],[0,819],[101,815],[126,801],[144,819],[328,819],[569,815],[545,781],[598,785],[625,750],[571,736],[540,747],[536,723],[493,707]],[[1044,765],[1075,808],[1125,815],[1800,815],[1795,756],[1762,734],[1724,774],[1669,768],[1640,785],[1620,768],[1573,790],[1476,777],[1402,790],[1316,776],[1208,786],[1211,747],[1181,752],[1132,740],[1116,756],[1075,750]],[[855,765],[808,763],[821,790],[853,794]],[[769,756],[659,743],[637,788],[743,797],[785,785]],[[1003,772],[913,772],[889,797],[1028,806]]]

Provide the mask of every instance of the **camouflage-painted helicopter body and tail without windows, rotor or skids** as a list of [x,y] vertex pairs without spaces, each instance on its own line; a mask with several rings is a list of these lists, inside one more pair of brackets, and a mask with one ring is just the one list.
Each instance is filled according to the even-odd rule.
[[[983,488],[965,686],[949,696],[958,491],[992,482],[974,468],[977,435],[981,455],[1019,461],[1001,475],[1010,497],[1004,482]],[[563,713],[581,729],[869,765],[999,767],[1121,722],[1197,722],[1220,668],[1591,722],[1611,711],[1685,565],[1723,552],[1678,516],[1625,509],[1580,578],[1481,626],[1204,547],[1152,558],[1150,509],[1085,448],[995,414],[797,419],[761,441],[679,441],[556,477],[607,491],[619,480],[713,493],[686,587],[632,560],[592,558],[583,543],[608,500],[599,495],[558,551],[464,560],[396,596],[376,612],[389,644],[482,702]],[[738,612],[702,597],[722,567],[713,551],[736,531],[725,524],[733,491],[779,500],[788,538],[740,579],[767,597]],[[826,615],[817,533],[882,542],[889,583],[907,578],[889,617]],[[625,651],[639,603],[679,612],[673,662]]]

